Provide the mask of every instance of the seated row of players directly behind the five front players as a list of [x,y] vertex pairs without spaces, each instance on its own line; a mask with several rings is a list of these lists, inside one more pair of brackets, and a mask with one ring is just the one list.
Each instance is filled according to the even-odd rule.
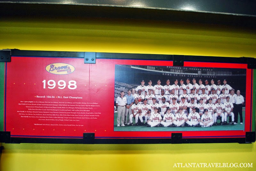
[[[145,117],[145,123],[150,121],[152,115],[151,112],[155,108],[157,109],[157,113],[162,117],[166,115],[167,112],[170,112],[173,116],[176,116],[179,114],[180,109],[182,109],[182,113],[184,116],[189,116],[189,114],[193,113],[193,110],[195,109],[195,112],[200,116],[204,115],[205,110],[207,109],[207,112],[210,113],[210,115],[213,118],[214,125],[217,125],[217,117],[221,117],[220,124],[227,124],[227,116],[232,117],[232,124],[234,124],[234,114],[233,114],[233,104],[229,101],[229,96],[227,96],[227,101],[225,104],[222,104],[220,101],[220,98],[218,98],[218,102],[216,104],[212,103],[212,99],[209,98],[209,103],[205,104],[203,102],[203,99],[200,99],[200,103],[195,103],[195,99],[191,98],[191,102],[188,103],[185,101],[185,98],[181,98],[181,102],[178,103],[176,98],[172,98],[172,103],[169,104],[165,100],[165,97],[163,97],[161,103],[156,103],[156,98],[152,99],[152,103],[148,104],[148,99],[143,100],[143,104],[139,104],[139,100],[135,99],[135,103],[131,106],[132,114],[129,115],[129,123],[128,125],[133,125],[132,119],[135,118],[135,124],[138,125],[138,121],[140,119],[141,124],[143,124],[143,117]],[[193,110],[192,110],[193,109]]]

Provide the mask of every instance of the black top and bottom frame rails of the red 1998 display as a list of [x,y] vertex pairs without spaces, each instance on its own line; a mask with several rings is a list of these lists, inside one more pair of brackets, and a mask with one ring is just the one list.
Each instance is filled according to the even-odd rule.
[[[86,58],[88,52],[68,51],[37,51],[8,49],[8,56],[44,56],[44,57],[79,57]],[[173,66],[183,66],[184,61],[218,62],[248,64],[249,69],[256,69],[256,58],[249,57],[218,57],[218,56],[185,56],[159,54],[129,54],[94,52],[97,58],[107,59],[140,59],[140,60],[169,60]],[[217,61],[216,61],[217,60]],[[1,61],[0,61],[1,62]],[[5,61],[3,61],[5,62]],[[83,138],[19,138],[11,137],[8,131],[0,131],[0,142],[3,143],[51,143],[51,144],[181,144],[181,143],[252,143],[255,142],[255,130],[246,132],[242,138],[182,138],[182,133],[171,133],[170,138],[95,138],[94,133],[84,133]]]

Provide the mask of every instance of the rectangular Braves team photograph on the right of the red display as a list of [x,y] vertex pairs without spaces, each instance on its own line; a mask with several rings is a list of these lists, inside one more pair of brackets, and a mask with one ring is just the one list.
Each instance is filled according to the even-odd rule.
[[244,130],[246,70],[116,65],[114,131]]

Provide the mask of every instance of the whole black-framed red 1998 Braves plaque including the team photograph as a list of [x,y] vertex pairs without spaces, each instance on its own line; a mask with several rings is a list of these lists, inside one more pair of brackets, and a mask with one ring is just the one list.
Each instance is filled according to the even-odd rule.
[[255,141],[253,58],[9,50],[1,142]]

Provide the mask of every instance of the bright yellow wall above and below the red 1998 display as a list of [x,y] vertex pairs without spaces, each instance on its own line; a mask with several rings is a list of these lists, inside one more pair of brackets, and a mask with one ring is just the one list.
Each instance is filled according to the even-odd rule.
[[[124,19],[0,20],[0,49],[256,57],[255,47],[255,31],[228,26]],[[255,143],[2,146],[2,171],[191,170],[173,168],[185,162],[253,163],[254,169],[237,170],[256,167]]]

